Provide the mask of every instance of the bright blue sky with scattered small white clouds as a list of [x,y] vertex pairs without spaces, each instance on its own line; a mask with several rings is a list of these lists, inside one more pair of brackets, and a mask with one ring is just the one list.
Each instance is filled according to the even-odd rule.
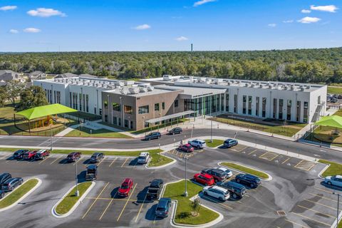
[[0,0],[0,51],[336,47],[341,13],[341,0]]

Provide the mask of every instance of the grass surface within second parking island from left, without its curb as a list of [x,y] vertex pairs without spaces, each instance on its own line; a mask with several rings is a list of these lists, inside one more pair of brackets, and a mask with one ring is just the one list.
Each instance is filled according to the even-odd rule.
[[88,190],[88,187],[90,187],[91,183],[92,182],[83,182],[81,184],[78,184],[78,191],[80,192],[80,195],[78,197],[76,197],[75,195],[76,187],[74,187],[73,190],[71,190],[71,192],[69,192],[69,194],[66,195],[66,197],[64,197],[64,199],[57,205],[56,212],[61,215],[69,212],[71,207],[73,207],[73,205],[76,204],[76,202],[78,201],[78,199],[80,199],[84,192]]

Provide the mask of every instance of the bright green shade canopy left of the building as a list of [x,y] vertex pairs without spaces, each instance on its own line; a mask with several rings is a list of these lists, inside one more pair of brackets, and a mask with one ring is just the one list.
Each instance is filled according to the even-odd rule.
[[66,107],[61,104],[53,104],[53,105],[43,105],[36,108],[29,108],[26,110],[22,110],[16,115],[24,115],[26,119],[32,120],[35,118],[40,118],[47,115],[55,115],[61,113],[72,113],[77,112],[77,110],[73,108]]

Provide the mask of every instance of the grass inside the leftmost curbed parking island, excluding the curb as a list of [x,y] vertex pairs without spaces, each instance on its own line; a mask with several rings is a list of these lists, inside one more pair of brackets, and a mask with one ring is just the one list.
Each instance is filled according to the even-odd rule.
[[8,197],[0,200],[0,208],[8,207],[11,204],[14,204],[16,200],[20,199],[23,195],[26,194],[29,190],[35,187],[38,184],[37,179],[31,179],[25,182],[23,185],[17,187],[13,192],[8,192]]

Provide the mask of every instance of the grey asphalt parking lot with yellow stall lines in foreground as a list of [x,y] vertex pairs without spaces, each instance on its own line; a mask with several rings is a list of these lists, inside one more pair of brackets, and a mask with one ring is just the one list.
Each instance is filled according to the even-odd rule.
[[[57,219],[51,208],[74,185],[76,164],[78,178],[82,180],[89,156],[83,156],[77,163],[67,163],[66,155],[28,162],[0,154],[2,172],[43,180],[41,187],[24,202],[1,212],[0,219],[5,227],[43,227],[51,222],[55,227],[170,227],[170,217],[155,218],[157,202],[147,201],[145,193],[154,178],[165,182],[184,178],[184,157],[190,155],[189,179],[203,168],[217,167],[224,161],[254,167],[273,177],[271,181],[262,181],[257,189],[247,189],[247,195],[238,200],[218,202],[200,193],[202,204],[224,215],[215,227],[330,227],[335,220],[336,197],[317,176],[323,168],[321,164],[244,145],[232,149],[204,148],[193,153],[174,150],[166,155],[174,157],[177,163],[162,170],[148,170],[145,165],[138,165],[134,157],[105,157],[98,163],[98,180],[93,190],[71,216]],[[232,180],[234,175],[237,172],[233,171]],[[125,177],[133,178],[133,190],[129,197],[120,198],[117,191]],[[14,212],[23,216],[8,219]]]

